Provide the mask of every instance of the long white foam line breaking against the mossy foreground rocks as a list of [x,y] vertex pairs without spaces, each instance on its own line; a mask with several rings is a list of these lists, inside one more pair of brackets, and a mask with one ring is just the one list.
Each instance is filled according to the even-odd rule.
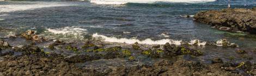
[[156,41],[153,41],[151,39],[146,39],[143,41],[138,39],[127,39],[127,38],[118,39],[116,37],[107,37],[104,35],[99,35],[97,33],[93,34],[93,37],[96,37],[96,38],[100,37],[101,39],[103,39],[103,41],[106,41],[106,42],[118,42],[118,43],[128,43],[128,44],[138,42],[141,44],[148,44],[148,45],[164,45],[166,42],[169,42],[175,45],[181,45],[181,42],[182,42],[181,40],[170,40],[170,39],[162,39],[162,40],[156,40]]

